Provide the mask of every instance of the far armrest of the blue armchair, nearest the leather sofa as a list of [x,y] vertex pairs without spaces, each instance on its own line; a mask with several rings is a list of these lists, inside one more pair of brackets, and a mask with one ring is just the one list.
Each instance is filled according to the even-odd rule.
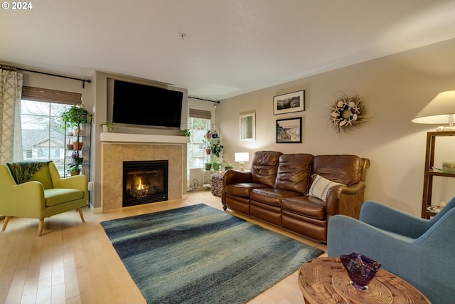
[[431,226],[427,219],[412,216],[376,201],[363,203],[360,209],[360,221],[413,239],[422,236]]

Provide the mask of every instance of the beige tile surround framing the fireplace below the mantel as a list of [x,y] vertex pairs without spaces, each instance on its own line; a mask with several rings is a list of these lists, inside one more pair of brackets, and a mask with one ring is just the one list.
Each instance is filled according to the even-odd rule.
[[[122,137],[113,134],[102,134],[102,209],[103,211],[122,208],[123,162],[137,160],[168,160],[168,200],[182,198],[183,182],[183,145],[186,138],[176,138],[172,143],[171,137],[162,138],[144,137],[135,138],[127,135]],[[164,138],[164,137],[163,137]],[[139,142],[140,141],[140,142]]]

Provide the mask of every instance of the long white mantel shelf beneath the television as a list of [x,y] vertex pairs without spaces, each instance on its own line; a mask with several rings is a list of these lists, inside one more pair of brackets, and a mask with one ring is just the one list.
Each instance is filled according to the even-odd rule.
[[129,134],[129,133],[100,133],[102,142],[149,142],[160,144],[187,144],[190,137],[174,135],[150,135],[150,134]]

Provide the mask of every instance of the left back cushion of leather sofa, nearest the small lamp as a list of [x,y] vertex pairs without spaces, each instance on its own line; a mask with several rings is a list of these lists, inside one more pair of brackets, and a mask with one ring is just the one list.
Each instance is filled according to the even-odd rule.
[[274,187],[277,177],[278,161],[282,152],[257,151],[251,164],[251,179],[257,184]]

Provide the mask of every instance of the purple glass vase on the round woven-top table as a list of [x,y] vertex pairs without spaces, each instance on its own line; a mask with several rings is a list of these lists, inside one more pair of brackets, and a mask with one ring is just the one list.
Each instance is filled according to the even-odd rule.
[[348,271],[350,285],[358,290],[368,289],[368,283],[374,278],[381,266],[378,261],[356,252],[340,256],[340,259]]

